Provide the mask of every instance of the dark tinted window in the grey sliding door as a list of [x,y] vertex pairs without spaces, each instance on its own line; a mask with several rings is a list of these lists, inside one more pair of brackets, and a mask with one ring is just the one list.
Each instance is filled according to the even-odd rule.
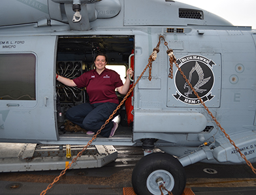
[[35,67],[32,53],[0,54],[0,99],[35,100]]

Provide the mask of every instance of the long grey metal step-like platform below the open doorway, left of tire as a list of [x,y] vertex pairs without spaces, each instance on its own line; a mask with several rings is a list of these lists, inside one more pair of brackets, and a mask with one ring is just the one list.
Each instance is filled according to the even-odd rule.
[[[0,143],[0,172],[63,170],[83,148],[71,146],[71,158],[67,158],[66,146]],[[114,146],[90,146],[70,169],[99,168],[117,157]]]

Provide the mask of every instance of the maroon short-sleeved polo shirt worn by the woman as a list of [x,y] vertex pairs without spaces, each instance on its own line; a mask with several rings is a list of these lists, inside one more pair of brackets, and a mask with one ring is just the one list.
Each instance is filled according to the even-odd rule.
[[73,81],[78,88],[86,87],[89,103],[112,102],[119,104],[115,89],[122,86],[123,82],[120,75],[114,70],[105,68],[101,75],[96,70],[91,70]]

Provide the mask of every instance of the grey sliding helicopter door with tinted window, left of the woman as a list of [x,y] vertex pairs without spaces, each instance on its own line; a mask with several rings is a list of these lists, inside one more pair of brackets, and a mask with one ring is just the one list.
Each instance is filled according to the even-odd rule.
[[57,140],[56,36],[0,38],[0,141]]

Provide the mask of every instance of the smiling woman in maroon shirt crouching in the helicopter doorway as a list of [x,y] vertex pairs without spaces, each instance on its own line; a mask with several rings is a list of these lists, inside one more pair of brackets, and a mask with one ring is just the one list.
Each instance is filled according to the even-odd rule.
[[[66,118],[82,129],[86,129],[88,135],[95,134],[118,106],[116,88],[120,94],[127,94],[130,85],[129,75],[133,77],[133,70],[129,68],[123,85],[120,75],[114,70],[106,68],[107,62],[106,55],[99,53],[94,60],[95,70],[85,72],[76,79],[67,79],[56,75],[57,81],[64,85],[77,86],[78,88],[86,87],[89,103],[76,105],[67,110]],[[107,123],[100,135],[112,137],[116,129],[118,129],[118,123]]]

